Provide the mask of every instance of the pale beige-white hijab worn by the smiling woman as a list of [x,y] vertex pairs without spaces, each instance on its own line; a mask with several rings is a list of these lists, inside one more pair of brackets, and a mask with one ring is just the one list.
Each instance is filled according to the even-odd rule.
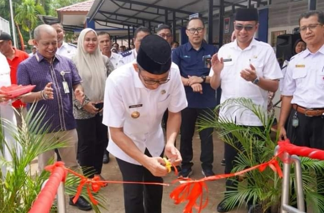
[[97,36],[96,31],[91,28],[82,30],[77,39],[76,54],[72,60],[83,80],[82,85],[86,96],[91,101],[98,102],[102,101],[104,97],[107,73],[99,47],[97,46],[92,54],[87,53],[84,49],[85,36],[90,31],[93,31]]

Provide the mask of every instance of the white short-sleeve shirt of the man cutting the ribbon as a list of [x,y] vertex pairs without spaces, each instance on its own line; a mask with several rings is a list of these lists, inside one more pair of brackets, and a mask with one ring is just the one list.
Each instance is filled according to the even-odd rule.
[[[117,68],[106,80],[102,122],[108,127],[124,127],[124,133],[143,153],[147,148],[156,157],[165,146],[161,128],[164,112],[167,109],[179,112],[187,105],[180,71],[174,63],[170,81],[155,90],[147,89],[133,63],[128,63]],[[134,113],[139,113],[139,117],[134,118]],[[111,137],[107,150],[121,160],[140,164],[121,150]]]

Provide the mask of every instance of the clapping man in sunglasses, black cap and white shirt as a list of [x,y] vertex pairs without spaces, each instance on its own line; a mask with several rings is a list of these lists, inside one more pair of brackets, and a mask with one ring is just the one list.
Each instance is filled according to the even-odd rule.
[[[254,104],[263,108],[267,113],[268,91],[275,92],[278,88],[278,79],[282,77],[280,67],[270,45],[257,41],[254,38],[258,30],[258,10],[255,8],[238,9],[236,11],[234,26],[236,39],[224,45],[212,58],[210,72],[212,88],[221,86],[221,103],[232,98],[248,98]],[[222,107],[219,112],[222,119],[229,120],[241,126],[255,126],[263,130],[259,118],[246,108],[233,104]],[[228,137],[233,138],[231,134]],[[231,173],[233,162],[237,155],[237,147],[228,144],[225,147],[225,174]],[[235,190],[235,181],[226,180],[226,191]],[[233,188],[234,187],[234,188]],[[231,208],[226,206],[225,198],[218,204],[218,212],[227,212]],[[232,206],[236,207],[238,202]],[[248,202],[248,207],[252,205]]]

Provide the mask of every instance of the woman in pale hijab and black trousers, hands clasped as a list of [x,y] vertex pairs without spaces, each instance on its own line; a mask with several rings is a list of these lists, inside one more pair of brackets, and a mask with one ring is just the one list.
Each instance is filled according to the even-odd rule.
[[76,54],[72,58],[85,90],[85,101],[81,105],[73,102],[78,136],[78,161],[89,178],[101,180],[102,158],[108,144],[107,126],[102,124],[102,108],[105,81],[113,70],[109,58],[98,48],[97,33],[90,28],[80,32]]

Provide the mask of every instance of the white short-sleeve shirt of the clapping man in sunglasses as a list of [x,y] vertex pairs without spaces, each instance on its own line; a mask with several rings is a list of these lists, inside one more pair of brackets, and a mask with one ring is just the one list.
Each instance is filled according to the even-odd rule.
[[[248,98],[254,104],[261,106],[266,113],[268,92],[251,81],[246,81],[240,76],[240,72],[246,68],[251,69],[250,64],[252,64],[259,77],[272,80],[282,78],[279,64],[271,46],[253,39],[249,47],[241,50],[234,40],[220,48],[218,57],[224,59],[224,69],[220,75],[221,103],[224,103],[227,99]],[[211,69],[210,76],[213,76],[213,74],[214,71]],[[220,116],[232,122],[236,121],[238,125],[262,125],[252,111],[238,105],[221,108]]]

